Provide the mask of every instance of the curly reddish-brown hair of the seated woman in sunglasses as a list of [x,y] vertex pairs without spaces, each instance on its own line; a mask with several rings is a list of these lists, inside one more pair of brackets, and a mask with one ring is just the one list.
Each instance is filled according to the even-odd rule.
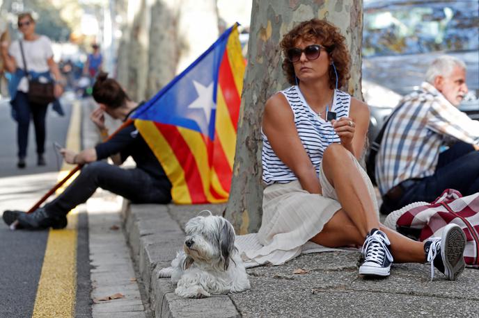
[[[283,50],[283,72],[291,85],[296,84],[295,67],[288,60],[288,50],[295,47],[298,40],[317,41],[326,49],[334,62],[338,72],[338,87],[342,87],[350,78],[350,51],[345,44],[345,37],[341,35],[339,28],[333,24],[320,20],[311,19],[301,22],[290,32],[283,36],[279,44]],[[332,66],[329,67],[329,88],[336,87],[336,74]]]

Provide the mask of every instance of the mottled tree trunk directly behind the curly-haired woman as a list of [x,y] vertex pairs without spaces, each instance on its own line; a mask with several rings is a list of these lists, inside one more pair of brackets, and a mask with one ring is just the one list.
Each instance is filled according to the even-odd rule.
[[313,17],[338,26],[352,56],[351,78],[342,90],[362,99],[362,8],[362,0],[253,0],[233,181],[226,208],[226,218],[238,234],[256,232],[261,225],[262,112],[272,94],[289,86],[281,69],[281,38],[299,22]]

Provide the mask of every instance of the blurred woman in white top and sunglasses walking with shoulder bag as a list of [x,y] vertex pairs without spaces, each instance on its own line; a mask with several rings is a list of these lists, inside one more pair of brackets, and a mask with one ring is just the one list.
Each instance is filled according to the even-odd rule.
[[53,74],[55,97],[58,98],[63,93],[65,80],[60,74],[58,65],[53,60],[52,44],[49,38],[35,33],[35,20],[31,13],[18,15],[18,28],[23,34],[23,39],[13,42],[10,47],[8,42],[1,42],[1,58],[8,72],[13,73],[13,80],[10,81],[9,87],[13,117],[17,121],[17,167],[24,168],[26,166],[26,147],[31,118],[35,126],[37,164],[39,166],[45,165],[45,124],[48,103],[33,103],[28,99],[29,81],[22,58],[22,47],[27,67],[26,71],[31,78],[49,81],[52,79],[51,74]]

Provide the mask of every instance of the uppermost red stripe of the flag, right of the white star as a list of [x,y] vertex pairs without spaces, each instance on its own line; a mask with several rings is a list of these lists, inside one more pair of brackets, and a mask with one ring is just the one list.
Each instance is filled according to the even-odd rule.
[[231,73],[227,50],[228,49],[225,50],[223,60],[221,60],[221,65],[219,66],[218,83],[221,86],[221,91],[223,92],[223,97],[230,113],[231,122],[235,130],[237,130],[239,105],[241,104],[239,94],[241,93],[238,92],[235,78],[233,78],[233,73]]

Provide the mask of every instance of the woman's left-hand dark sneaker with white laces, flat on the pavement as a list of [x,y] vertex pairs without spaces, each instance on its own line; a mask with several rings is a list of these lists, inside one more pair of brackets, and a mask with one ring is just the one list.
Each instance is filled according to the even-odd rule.
[[359,267],[359,274],[365,276],[389,276],[393,256],[391,243],[386,233],[373,228],[363,244],[364,262]]

